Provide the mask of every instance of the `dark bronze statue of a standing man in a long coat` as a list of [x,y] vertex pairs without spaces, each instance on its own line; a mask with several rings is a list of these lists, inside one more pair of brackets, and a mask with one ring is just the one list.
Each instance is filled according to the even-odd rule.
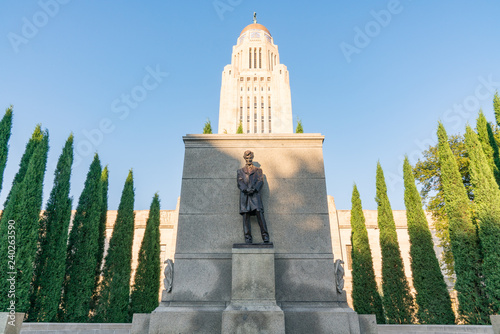
[[245,243],[252,243],[252,231],[250,228],[250,216],[257,216],[260,226],[262,240],[269,242],[266,219],[264,218],[264,206],[260,191],[264,185],[262,169],[253,165],[253,152],[245,151],[243,154],[245,166],[238,169],[238,188],[240,189],[240,215],[243,216],[243,233]]

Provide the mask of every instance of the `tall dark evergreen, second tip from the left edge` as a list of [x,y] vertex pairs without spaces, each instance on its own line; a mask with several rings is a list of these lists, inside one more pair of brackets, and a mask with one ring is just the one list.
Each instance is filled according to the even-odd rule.
[[[37,252],[39,216],[42,209],[43,179],[47,165],[49,135],[45,131],[38,136],[39,127],[35,129],[33,153],[29,159],[26,173],[20,183],[11,189],[11,199],[5,208],[0,225],[1,254],[8,254],[9,243],[14,241],[15,255],[2,259],[0,309],[6,310],[9,302],[7,291],[10,283],[7,278],[15,273],[15,303],[17,312],[28,312],[30,306],[30,284],[33,278],[33,267]],[[36,135],[36,136],[35,136]],[[38,138],[37,138],[38,137]],[[9,222],[15,222],[15,234],[7,234]],[[10,238],[10,237],[13,238]],[[15,261],[7,262],[7,261]],[[5,268],[5,269],[4,269]],[[7,270],[6,270],[7,269]]]

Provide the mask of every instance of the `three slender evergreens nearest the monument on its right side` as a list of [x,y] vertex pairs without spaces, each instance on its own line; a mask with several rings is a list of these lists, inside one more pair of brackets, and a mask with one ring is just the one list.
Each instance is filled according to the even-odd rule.
[[365,218],[354,185],[351,211],[353,306],[360,314],[375,314],[379,324],[453,324],[455,315],[450,296],[407,158],[403,172],[415,299],[405,275],[384,173],[378,163],[375,200],[382,252],[382,296],[377,290]]

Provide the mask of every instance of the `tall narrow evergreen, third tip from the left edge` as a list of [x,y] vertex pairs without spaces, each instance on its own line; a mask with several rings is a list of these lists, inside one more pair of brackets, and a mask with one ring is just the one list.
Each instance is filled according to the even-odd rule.
[[69,197],[73,135],[70,135],[54,173],[54,186],[40,219],[39,250],[35,262],[32,304],[29,319],[55,321],[66,264],[66,244],[71,219]]

